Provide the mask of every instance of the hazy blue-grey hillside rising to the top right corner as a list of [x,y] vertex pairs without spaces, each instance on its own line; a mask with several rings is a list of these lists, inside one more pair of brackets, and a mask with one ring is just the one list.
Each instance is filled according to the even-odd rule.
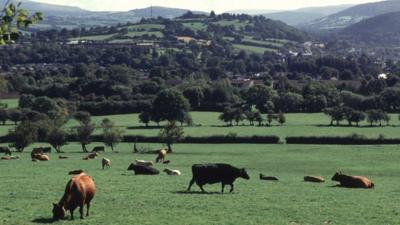
[[398,0],[361,4],[306,23],[303,27],[309,30],[345,28],[364,19],[396,11],[400,11],[400,1]]

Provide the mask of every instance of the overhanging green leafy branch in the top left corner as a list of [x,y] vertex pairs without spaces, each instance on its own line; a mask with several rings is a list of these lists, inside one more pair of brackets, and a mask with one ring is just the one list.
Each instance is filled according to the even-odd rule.
[[20,28],[27,28],[31,24],[35,24],[43,19],[43,14],[37,12],[29,15],[25,9],[19,8],[20,4],[15,5],[7,1],[6,6],[2,10],[0,18],[0,45],[9,44],[17,41],[21,32]]

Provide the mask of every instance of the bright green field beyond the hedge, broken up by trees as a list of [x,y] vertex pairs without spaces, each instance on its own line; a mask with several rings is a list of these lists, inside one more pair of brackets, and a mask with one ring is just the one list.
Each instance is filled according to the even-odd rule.
[[[349,136],[356,133],[370,138],[376,138],[380,134],[387,138],[400,138],[400,121],[395,114],[391,115],[392,121],[387,127],[369,127],[367,122],[361,123],[361,127],[330,127],[328,126],[329,118],[322,113],[287,114],[285,125],[279,126],[274,123],[271,127],[249,126],[247,121],[241,123],[240,126],[226,127],[225,123],[218,120],[220,113],[192,112],[191,115],[194,123],[201,126],[185,127],[184,131],[187,136],[226,135],[228,133],[236,133],[238,136],[277,135],[283,141],[287,136]],[[264,117],[266,116],[264,115]],[[157,136],[160,130],[155,127],[154,123],[150,124],[149,128],[145,128],[144,124],[139,123],[138,114],[95,116],[92,121],[100,126],[104,118],[109,118],[116,126],[125,130],[125,135]],[[77,125],[77,121],[70,120],[65,127],[69,129]],[[5,135],[13,127],[11,122],[8,122],[6,126],[0,126],[0,135]],[[97,134],[101,132],[101,129],[96,130]]]

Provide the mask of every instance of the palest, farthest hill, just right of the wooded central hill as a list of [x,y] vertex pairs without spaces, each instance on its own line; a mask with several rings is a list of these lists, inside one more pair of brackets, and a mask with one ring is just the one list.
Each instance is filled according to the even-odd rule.
[[337,13],[351,6],[352,5],[309,7],[309,8],[301,8],[294,11],[268,13],[268,14],[263,14],[263,16],[273,20],[280,20],[292,26],[296,26],[299,24],[311,22],[313,20],[322,18],[330,14]]

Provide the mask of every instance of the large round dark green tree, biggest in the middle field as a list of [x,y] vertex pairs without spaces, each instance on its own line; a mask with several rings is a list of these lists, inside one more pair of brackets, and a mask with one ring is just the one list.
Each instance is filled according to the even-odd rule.
[[178,120],[182,112],[189,111],[189,102],[181,92],[174,89],[161,91],[153,102],[153,115],[161,120]]

